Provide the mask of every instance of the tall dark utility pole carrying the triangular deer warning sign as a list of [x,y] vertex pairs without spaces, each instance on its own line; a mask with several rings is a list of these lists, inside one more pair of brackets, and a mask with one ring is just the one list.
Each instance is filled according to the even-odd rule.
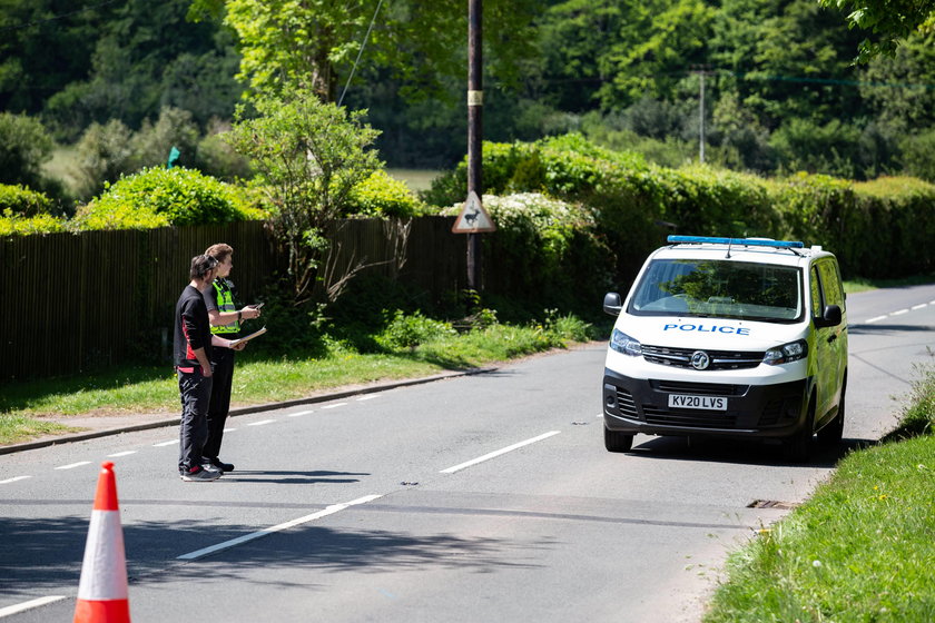
[[[482,0],[468,0],[468,195],[483,197],[481,156],[483,150],[483,48]],[[468,235],[468,287],[481,289],[481,235]]]

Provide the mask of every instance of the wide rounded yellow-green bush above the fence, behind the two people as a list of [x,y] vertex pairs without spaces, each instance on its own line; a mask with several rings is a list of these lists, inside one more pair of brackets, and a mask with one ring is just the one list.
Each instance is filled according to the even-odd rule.
[[262,218],[230,185],[181,167],[125,177],[78,210],[76,229],[146,229]]

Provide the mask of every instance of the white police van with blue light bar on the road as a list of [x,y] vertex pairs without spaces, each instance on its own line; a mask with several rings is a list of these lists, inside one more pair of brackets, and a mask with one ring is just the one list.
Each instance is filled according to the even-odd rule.
[[765,238],[669,236],[621,301],[603,378],[604,445],[633,435],[840,442],[847,317],[837,259]]

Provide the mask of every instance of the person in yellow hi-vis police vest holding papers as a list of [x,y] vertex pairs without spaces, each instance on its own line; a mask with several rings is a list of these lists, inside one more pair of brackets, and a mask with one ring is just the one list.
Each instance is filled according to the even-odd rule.
[[[224,243],[211,245],[205,255],[217,259],[217,278],[211,287],[203,294],[208,318],[211,323],[211,334],[226,339],[236,339],[240,334],[240,323],[259,317],[259,309],[247,306],[237,309],[234,305],[234,284],[228,276],[234,268],[234,249]],[[211,367],[214,383],[211,384],[211,399],[208,404],[208,438],[205,442],[204,457],[223,472],[233,472],[234,465],[224,463],[220,455],[220,442],[224,437],[224,423],[230,409],[230,387],[234,383],[234,352],[229,348],[213,350]]]

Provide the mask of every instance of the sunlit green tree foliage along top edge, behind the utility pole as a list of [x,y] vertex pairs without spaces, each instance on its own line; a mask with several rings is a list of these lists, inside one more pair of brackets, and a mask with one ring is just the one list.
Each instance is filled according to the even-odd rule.
[[[491,78],[514,80],[516,60],[532,53],[531,23],[543,0],[490,0],[484,7]],[[338,97],[367,28],[366,63],[386,67],[415,91],[437,90],[439,76],[463,76],[466,10],[462,0],[226,0],[225,23],[239,40],[239,77],[255,92],[309,89]],[[217,14],[219,0],[195,0],[193,13]]]

